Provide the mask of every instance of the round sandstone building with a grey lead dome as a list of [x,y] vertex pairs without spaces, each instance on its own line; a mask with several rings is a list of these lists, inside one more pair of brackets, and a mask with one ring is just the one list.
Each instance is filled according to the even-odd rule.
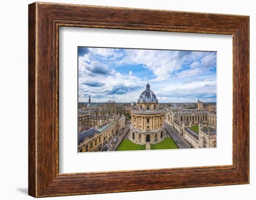
[[131,110],[129,139],[139,144],[161,142],[166,137],[164,131],[164,111],[159,109],[155,93],[146,85],[146,90],[138,99],[137,108]]

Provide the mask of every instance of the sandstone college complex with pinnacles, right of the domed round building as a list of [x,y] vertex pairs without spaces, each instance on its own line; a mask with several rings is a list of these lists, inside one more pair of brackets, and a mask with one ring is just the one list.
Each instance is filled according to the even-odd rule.
[[[165,122],[181,135],[191,148],[216,147],[216,112],[203,110],[198,100],[198,109],[166,109]],[[198,125],[198,132],[191,129]]]

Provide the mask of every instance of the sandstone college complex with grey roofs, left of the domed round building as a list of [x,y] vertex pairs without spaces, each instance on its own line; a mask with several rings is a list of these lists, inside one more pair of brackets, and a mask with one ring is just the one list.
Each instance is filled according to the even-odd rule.
[[102,104],[80,104],[83,111],[78,114],[78,152],[103,151],[104,146],[125,126],[125,116],[107,113],[101,114]]

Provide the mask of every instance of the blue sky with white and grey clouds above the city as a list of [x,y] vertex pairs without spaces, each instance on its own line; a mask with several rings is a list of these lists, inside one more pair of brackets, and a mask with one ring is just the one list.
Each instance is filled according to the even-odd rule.
[[79,102],[216,102],[216,52],[78,47]]

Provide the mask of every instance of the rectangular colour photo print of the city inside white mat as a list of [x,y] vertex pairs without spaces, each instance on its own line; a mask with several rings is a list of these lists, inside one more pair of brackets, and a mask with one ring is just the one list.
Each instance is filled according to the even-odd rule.
[[216,52],[78,47],[78,152],[216,148]]

